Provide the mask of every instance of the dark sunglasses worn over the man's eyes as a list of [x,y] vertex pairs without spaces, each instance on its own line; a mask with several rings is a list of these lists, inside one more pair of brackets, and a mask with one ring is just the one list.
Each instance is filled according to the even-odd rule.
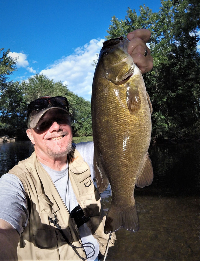
[[70,124],[69,114],[63,114],[63,115],[60,115],[60,116],[58,116],[57,118],[54,118],[54,119],[39,120],[34,129],[35,129],[36,132],[45,132],[51,127],[51,125],[54,122],[57,122],[57,124],[60,125],[60,126],[65,126],[67,124]]

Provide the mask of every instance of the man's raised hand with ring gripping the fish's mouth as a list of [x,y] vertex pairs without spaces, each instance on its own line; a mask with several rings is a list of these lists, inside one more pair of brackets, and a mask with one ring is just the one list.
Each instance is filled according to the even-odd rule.
[[[151,56],[150,49],[146,46],[150,37],[151,32],[148,29],[137,29],[127,35],[127,39],[130,41],[128,53],[133,57],[133,61],[141,73],[146,73],[153,67],[153,57]],[[144,56],[145,49],[147,51],[146,56]]]

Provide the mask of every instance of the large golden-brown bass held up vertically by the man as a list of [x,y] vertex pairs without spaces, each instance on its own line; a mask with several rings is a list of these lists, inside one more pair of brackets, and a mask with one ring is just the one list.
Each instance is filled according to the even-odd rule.
[[99,193],[110,183],[104,233],[139,229],[134,188],[149,186],[152,105],[123,37],[104,41],[92,83],[94,168]]

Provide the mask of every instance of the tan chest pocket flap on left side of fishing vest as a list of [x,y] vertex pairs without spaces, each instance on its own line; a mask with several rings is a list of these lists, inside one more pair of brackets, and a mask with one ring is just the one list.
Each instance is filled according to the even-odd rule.
[[38,195],[40,213],[50,214],[59,210],[59,207],[51,193]]

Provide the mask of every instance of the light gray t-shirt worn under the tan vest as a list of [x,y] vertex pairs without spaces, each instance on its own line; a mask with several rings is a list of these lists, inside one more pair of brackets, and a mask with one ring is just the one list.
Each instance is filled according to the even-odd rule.
[[[91,178],[95,180],[93,168],[93,142],[73,144],[79,151],[84,161],[89,164],[91,170]],[[42,164],[44,169],[50,175],[55,187],[71,212],[78,205],[77,199],[72,189],[68,175],[68,163],[66,169],[55,171],[46,165]],[[5,204],[6,203],[6,204]],[[13,174],[4,174],[0,179],[0,218],[9,222],[21,235],[23,229],[28,222],[28,210],[26,195],[21,181]],[[83,224],[79,228],[80,237],[83,244],[90,245],[95,248],[95,255],[89,258],[89,261],[95,260],[99,252],[99,244],[92,236],[87,224]],[[90,247],[85,247],[85,251],[89,254]],[[89,254],[89,257],[92,254]]]

